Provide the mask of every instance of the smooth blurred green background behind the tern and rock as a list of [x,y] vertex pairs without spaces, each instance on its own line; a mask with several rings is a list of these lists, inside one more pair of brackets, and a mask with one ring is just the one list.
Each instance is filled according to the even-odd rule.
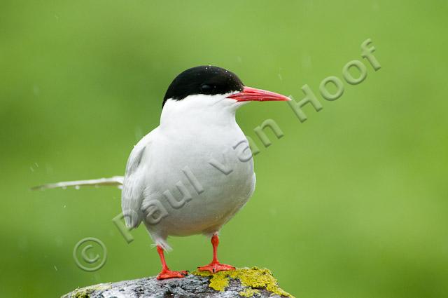
[[[447,1],[1,1],[0,296],[58,297],[75,287],[153,276],[143,226],[127,244],[111,219],[116,188],[30,191],[123,175],[158,126],[179,72],[218,65],[248,86],[293,95],[362,60],[323,110],[239,110],[260,147],[258,184],[221,233],[223,262],[263,266],[297,297],[447,297]],[[360,57],[371,38],[381,69]],[[272,118],[264,148],[253,128]],[[108,248],[78,269],[85,237]],[[209,262],[202,236],[172,238],[172,269]]]

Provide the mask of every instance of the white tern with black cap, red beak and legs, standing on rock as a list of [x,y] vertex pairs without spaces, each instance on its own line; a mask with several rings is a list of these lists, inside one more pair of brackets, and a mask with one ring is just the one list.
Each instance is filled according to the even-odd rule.
[[[162,264],[158,280],[188,274],[167,266],[165,252],[172,250],[169,236],[207,236],[212,260],[198,270],[235,270],[218,261],[218,235],[251,198],[256,181],[236,111],[253,101],[288,100],[279,93],[245,86],[236,74],[221,67],[186,69],[167,88],[160,124],[134,146],[124,177],[78,184],[122,187],[125,224],[135,229],[143,223],[157,248]],[[37,189],[78,184],[61,182]]]

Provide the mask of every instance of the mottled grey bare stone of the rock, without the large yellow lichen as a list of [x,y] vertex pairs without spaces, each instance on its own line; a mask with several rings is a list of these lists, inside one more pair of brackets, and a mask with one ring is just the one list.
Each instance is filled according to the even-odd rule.
[[269,292],[263,286],[241,285],[241,280],[238,278],[228,278],[228,285],[221,292],[209,286],[211,278],[212,276],[188,274],[186,278],[167,280],[157,280],[155,277],[151,277],[118,283],[102,283],[74,290],[62,298],[283,297]]

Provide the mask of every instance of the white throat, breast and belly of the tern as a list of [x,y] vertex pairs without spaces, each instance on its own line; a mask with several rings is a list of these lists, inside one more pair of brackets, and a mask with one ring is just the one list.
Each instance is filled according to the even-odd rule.
[[[253,159],[235,121],[235,101],[217,98],[204,107],[203,100],[168,101],[173,107],[164,108],[160,127],[151,135],[142,161],[147,163],[142,210],[155,238],[214,233],[255,189]],[[181,106],[197,102],[200,113]]]

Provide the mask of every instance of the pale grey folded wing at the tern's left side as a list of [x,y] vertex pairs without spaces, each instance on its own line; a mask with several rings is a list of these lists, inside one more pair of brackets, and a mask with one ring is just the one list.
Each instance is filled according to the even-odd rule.
[[142,162],[147,158],[146,152],[151,145],[151,133],[141,139],[127,160],[125,179],[123,181],[123,191],[121,193],[121,208],[125,218],[126,226],[135,228],[139,226],[143,218],[141,212],[141,202],[145,189],[146,163]]

